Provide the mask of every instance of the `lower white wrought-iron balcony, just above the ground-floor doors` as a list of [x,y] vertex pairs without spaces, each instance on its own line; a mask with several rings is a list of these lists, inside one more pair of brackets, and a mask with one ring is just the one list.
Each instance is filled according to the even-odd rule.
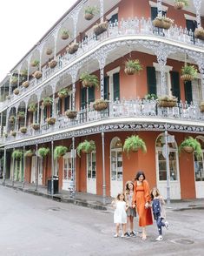
[[[34,130],[31,125],[27,132],[16,131],[16,136],[0,138],[1,144],[17,143],[26,139],[35,139],[41,136],[49,136],[53,133],[62,134],[71,131],[73,128],[81,130],[100,125],[115,124],[172,124],[188,127],[188,132],[194,132],[194,127],[204,128],[204,113],[197,104],[177,103],[174,107],[158,106],[156,100],[132,99],[109,102],[109,107],[104,111],[95,111],[93,104],[87,109],[78,111],[76,118],[69,119],[66,115],[56,117],[56,123],[48,125],[43,122],[39,130]],[[35,141],[34,141],[35,143]]]

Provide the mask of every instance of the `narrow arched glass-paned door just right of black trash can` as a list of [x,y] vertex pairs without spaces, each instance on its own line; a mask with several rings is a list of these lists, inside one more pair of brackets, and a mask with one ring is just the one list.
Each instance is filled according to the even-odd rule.
[[63,190],[68,190],[71,182],[72,158],[68,152],[63,156]]

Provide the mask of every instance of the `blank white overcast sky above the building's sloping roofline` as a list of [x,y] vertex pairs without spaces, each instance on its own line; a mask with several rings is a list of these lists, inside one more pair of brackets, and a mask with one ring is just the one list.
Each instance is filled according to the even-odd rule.
[[0,8],[0,83],[76,0],[6,0]]

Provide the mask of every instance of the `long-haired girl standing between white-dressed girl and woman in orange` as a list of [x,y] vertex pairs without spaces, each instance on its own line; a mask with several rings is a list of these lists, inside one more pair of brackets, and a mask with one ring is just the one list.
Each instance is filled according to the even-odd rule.
[[125,185],[125,200],[128,205],[127,209],[127,222],[129,226],[129,232],[125,232],[126,237],[135,237],[134,232],[134,217],[136,217],[135,208],[133,208],[133,194],[134,194],[134,183],[127,181]]

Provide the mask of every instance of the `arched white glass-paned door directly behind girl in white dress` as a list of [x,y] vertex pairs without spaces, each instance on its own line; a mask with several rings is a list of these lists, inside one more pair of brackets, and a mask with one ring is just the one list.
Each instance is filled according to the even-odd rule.
[[120,138],[114,138],[110,149],[110,196],[115,198],[122,190],[122,143]]

